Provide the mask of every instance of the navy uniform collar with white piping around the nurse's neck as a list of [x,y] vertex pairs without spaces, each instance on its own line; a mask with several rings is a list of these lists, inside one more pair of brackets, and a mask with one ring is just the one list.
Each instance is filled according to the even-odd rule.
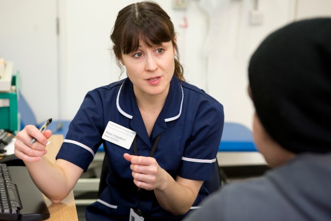
[[[133,84],[129,78],[127,78],[118,91],[116,106],[120,113],[130,119],[135,115],[133,110],[137,108],[134,97]],[[181,116],[183,100],[183,88],[178,79],[173,76],[170,82],[169,93],[165,100],[165,106],[160,113],[165,122],[176,120]]]

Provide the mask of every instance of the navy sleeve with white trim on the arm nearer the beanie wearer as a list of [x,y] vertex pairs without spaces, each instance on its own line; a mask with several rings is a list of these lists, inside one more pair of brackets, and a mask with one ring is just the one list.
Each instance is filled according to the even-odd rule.
[[190,180],[212,178],[224,125],[223,106],[212,99],[198,109],[189,144],[184,149],[179,176]]

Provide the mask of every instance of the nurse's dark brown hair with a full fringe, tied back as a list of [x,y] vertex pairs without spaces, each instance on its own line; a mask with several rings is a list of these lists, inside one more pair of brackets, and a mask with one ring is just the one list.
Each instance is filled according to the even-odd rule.
[[122,53],[136,51],[140,40],[149,47],[171,41],[176,50],[174,74],[182,82],[185,81],[184,69],[179,62],[175,36],[174,25],[160,5],[152,1],[142,1],[130,4],[118,12],[110,39],[114,44],[116,63],[121,69],[119,59]]

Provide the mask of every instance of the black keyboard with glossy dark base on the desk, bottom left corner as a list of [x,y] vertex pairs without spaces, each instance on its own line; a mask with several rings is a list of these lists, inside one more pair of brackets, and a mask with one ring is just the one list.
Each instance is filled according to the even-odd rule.
[[0,221],[39,221],[49,217],[45,200],[26,167],[0,164]]

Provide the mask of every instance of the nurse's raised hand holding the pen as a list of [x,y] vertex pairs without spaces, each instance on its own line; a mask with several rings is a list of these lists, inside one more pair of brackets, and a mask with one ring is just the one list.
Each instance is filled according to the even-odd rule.
[[[36,162],[47,153],[47,139],[52,136],[51,130],[45,130],[43,133],[33,125],[27,125],[16,134],[15,155],[25,162]],[[30,144],[32,138],[37,142]]]

